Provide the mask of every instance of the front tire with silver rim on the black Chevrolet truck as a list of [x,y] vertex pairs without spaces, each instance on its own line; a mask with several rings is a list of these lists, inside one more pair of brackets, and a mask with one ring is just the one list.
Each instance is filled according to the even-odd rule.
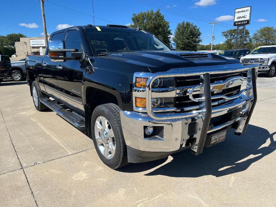
[[117,105],[103,104],[95,108],[91,117],[91,132],[96,152],[104,164],[112,169],[128,164]]

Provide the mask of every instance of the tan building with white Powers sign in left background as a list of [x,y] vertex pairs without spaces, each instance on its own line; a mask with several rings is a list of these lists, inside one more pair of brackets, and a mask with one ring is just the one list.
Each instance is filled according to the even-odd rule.
[[[48,37],[49,40],[50,37]],[[44,37],[21,37],[19,42],[15,42],[17,57],[26,57],[31,52],[39,51],[42,47],[43,54],[46,50]]]

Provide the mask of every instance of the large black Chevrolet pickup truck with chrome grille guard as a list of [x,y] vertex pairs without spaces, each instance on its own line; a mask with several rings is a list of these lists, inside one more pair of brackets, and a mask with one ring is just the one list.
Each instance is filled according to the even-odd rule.
[[199,155],[231,128],[244,133],[257,101],[258,64],[172,51],[120,25],[59,30],[44,56],[26,61],[36,109],[85,130],[112,169],[185,149]]

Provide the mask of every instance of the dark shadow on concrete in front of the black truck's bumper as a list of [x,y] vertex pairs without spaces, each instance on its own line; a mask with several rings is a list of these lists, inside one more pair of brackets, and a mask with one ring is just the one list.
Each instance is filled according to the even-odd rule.
[[[234,130],[228,132],[226,140],[216,146],[204,148],[201,155],[192,155],[190,150],[171,155],[167,159],[148,163],[129,164],[121,172],[144,172],[161,165],[145,175],[165,175],[169,177],[201,177],[224,175],[246,170],[252,163],[269,155],[276,149],[273,135],[266,129],[249,125],[246,134],[234,135]],[[265,144],[266,143],[266,144]],[[263,145],[265,144],[265,145]]]

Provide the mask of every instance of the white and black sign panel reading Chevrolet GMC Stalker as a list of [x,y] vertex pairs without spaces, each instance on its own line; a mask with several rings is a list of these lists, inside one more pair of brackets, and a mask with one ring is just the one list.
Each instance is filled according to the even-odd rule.
[[251,6],[235,9],[234,26],[250,24]]

